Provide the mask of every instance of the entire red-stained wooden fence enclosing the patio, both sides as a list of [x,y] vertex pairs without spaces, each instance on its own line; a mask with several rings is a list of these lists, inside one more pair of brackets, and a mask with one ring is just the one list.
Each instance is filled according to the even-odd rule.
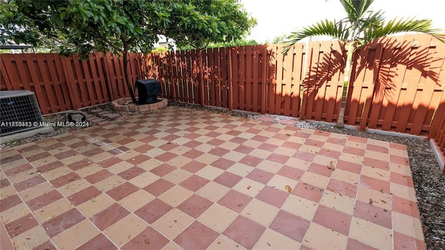
[[[131,83],[156,78],[161,97],[337,122],[343,83],[337,41],[129,55]],[[429,35],[386,38],[355,52],[345,123],[435,138],[445,145],[445,44]],[[35,92],[43,114],[128,97],[122,58],[1,55],[1,90]]]

